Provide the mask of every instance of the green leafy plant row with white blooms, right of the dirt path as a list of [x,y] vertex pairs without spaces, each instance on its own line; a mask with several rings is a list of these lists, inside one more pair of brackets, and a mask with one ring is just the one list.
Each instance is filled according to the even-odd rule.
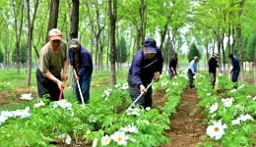
[[[205,142],[200,142],[200,144],[202,146],[226,147],[252,146],[255,144],[254,133],[256,130],[253,122],[256,115],[256,92],[254,88],[240,82],[237,89],[232,89],[231,81],[227,76],[219,74],[217,78],[218,93],[212,89],[208,73],[203,73],[199,78],[196,78],[197,92],[201,99],[199,106],[205,108],[205,114],[208,118],[206,122],[210,124],[221,120],[227,127],[224,129],[224,135],[221,139],[216,140],[206,136]],[[201,86],[202,84],[204,86]],[[231,99],[231,102],[225,103],[227,99]],[[214,109],[213,105],[216,104],[218,107]]]

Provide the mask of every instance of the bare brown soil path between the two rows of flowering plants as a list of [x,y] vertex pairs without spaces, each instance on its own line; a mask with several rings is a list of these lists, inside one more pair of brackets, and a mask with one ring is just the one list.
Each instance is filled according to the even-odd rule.
[[[162,90],[155,91],[154,107],[165,102],[164,94]],[[198,142],[202,141],[206,133],[206,125],[202,124],[205,119],[201,113],[202,108],[196,107],[199,101],[195,89],[184,90],[176,114],[170,117],[170,129],[165,132],[166,136],[171,139],[171,144],[165,144],[162,147],[195,147]]]

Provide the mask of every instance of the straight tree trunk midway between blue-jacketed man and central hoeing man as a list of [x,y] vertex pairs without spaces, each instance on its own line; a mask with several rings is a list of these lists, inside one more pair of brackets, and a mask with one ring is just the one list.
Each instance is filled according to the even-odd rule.
[[108,0],[108,15],[110,20],[110,62],[111,62],[111,82],[114,86],[116,84],[115,74],[115,25],[117,6],[116,0]]

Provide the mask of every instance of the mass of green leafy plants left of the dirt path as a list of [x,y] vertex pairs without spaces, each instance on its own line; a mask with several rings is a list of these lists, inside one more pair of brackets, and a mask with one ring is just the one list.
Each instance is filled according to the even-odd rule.
[[[103,74],[98,75],[100,78],[104,77]],[[179,73],[177,76],[178,78],[170,81],[168,75],[165,74],[154,85],[154,88],[168,88],[173,84],[176,85],[169,88],[167,93],[171,98],[160,108],[161,111],[136,107],[134,109],[139,111],[139,116],[128,115],[129,111],[126,110],[131,104],[126,81],[123,84],[119,83],[112,88],[107,88],[102,95],[98,95],[102,91],[96,91],[97,95],[92,94],[92,103],[87,104],[86,107],[76,103],[75,95],[71,90],[65,91],[65,99],[71,102],[72,109],[64,109],[56,105],[58,102],[47,101],[47,96],[42,99],[46,105],[39,108],[34,107],[34,104],[40,101],[38,99],[26,100],[20,105],[13,105],[5,111],[23,110],[30,107],[31,116],[25,119],[9,118],[6,122],[1,123],[0,134],[5,135],[0,135],[0,145],[51,146],[50,142],[55,142],[60,134],[67,133],[76,143],[81,140],[92,142],[97,138],[98,146],[102,146],[99,141],[102,136],[106,134],[110,136],[128,126],[136,127],[137,131],[125,132],[129,138],[135,140],[127,140],[127,146],[160,146],[170,143],[169,138],[164,135],[164,130],[169,128],[169,116],[175,112],[175,107],[180,102],[180,95],[178,96],[176,92],[181,93],[186,86],[183,84],[186,75]],[[96,86],[96,84],[92,85]],[[145,141],[149,139],[151,141]],[[61,140],[59,144],[62,144],[62,141],[64,140]],[[112,140],[108,146],[118,145]]]

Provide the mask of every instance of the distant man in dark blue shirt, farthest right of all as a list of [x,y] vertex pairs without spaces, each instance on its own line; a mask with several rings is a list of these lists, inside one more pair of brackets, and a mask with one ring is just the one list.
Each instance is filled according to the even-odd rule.
[[240,63],[236,56],[233,56],[233,54],[229,54],[228,58],[230,60],[230,64],[232,65],[232,69],[230,71],[230,74],[232,75],[232,82],[234,83],[234,88],[238,87],[238,76],[240,73]]

